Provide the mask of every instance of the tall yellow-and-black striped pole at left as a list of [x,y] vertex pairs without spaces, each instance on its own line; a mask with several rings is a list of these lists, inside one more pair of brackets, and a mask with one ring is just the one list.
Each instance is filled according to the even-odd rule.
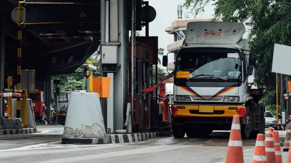
[[[20,90],[20,77],[21,77],[21,20],[22,20],[22,5],[18,2],[18,38],[17,38],[17,90]],[[20,97],[16,101],[16,117],[20,118]]]

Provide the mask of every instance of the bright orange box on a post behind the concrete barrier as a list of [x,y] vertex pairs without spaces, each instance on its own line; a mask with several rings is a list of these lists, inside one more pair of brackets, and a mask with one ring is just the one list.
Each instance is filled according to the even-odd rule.
[[94,77],[93,92],[98,93],[100,98],[109,98],[111,77]]

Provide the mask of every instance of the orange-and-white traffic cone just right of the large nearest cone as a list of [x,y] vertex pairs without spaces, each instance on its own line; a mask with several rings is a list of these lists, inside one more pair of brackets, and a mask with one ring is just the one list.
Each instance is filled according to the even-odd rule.
[[257,135],[253,163],[267,163],[264,134]]

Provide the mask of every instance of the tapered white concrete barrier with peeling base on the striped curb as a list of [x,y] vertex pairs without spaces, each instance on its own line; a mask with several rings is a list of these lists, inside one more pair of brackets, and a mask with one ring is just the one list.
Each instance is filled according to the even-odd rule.
[[[104,139],[105,134],[104,120],[98,93],[71,93],[63,139]],[[80,141],[82,140],[80,139]]]

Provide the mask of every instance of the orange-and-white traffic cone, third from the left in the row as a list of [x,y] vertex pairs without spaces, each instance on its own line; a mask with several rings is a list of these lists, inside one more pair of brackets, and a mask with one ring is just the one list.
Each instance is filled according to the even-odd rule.
[[267,133],[265,137],[265,150],[267,163],[276,163],[273,133]]

